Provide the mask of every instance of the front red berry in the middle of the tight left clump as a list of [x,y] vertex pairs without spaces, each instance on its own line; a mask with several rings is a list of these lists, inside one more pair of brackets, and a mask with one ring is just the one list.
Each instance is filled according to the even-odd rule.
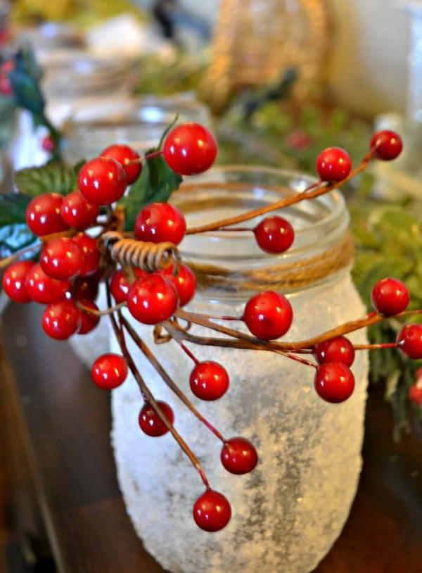
[[82,269],[82,251],[73,239],[59,237],[44,244],[39,262],[49,277],[70,279]]

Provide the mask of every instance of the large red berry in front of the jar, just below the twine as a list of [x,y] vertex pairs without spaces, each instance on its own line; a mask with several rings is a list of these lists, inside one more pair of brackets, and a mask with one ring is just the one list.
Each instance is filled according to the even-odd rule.
[[252,296],[246,303],[243,320],[257,338],[277,339],[290,328],[293,310],[283,294],[264,291]]

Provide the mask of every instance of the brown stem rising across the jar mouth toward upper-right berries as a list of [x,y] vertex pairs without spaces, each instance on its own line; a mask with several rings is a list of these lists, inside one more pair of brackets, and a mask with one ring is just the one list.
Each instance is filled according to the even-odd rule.
[[[235,223],[248,221],[260,215],[264,215],[264,213],[270,213],[271,211],[278,210],[284,207],[288,207],[293,205],[294,203],[299,203],[304,199],[315,199],[320,195],[324,195],[329,191],[333,191],[333,189],[338,189],[347,181],[350,181],[352,177],[363,171],[371,159],[372,155],[371,152],[367,153],[364,160],[362,161],[361,165],[359,165],[356,169],[352,170],[345,179],[339,182],[335,182],[329,185],[323,184],[320,187],[317,187],[313,191],[301,191],[300,193],[295,193],[280,201],[276,201],[276,203],[272,203],[271,205],[267,205],[265,207],[261,207],[258,209],[252,209],[250,211],[246,211],[246,213],[241,213],[241,215],[237,215],[236,217],[231,217],[228,219],[221,219],[219,221],[215,221],[212,223],[208,223],[207,225],[200,225],[199,227],[191,227],[190,229],[186,230],[186,234],[196,234],[196,233],[205,233],[207,231],[215,231],[216,229],[220,229],[221,227],[227,227],[228,225],[234,225]],[[291,193],[291,189],[286,189],[289,193]]]

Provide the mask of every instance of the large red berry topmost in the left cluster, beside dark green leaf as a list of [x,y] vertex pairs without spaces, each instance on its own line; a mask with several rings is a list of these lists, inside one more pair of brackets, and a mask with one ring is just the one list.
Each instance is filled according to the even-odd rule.
[[199,123],[173,127],[162,148],[165,162],[179,175],[197,175],[209,169],[217,157],[217,141]]

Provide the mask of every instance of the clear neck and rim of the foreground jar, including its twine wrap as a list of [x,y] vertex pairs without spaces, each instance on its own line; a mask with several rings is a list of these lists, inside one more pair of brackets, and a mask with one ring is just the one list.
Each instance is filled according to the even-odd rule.
[[[188,227],[261,208],[303,191],[311,180],[271,168],[217,168],[189,180],[172,198]],[[338,191],[300,201],[271,215],[288,219],[295,241],[285,253],[264,253],[252,231],[212,231],[186,235],[181,256],[196,272],[198,291],[206,298],[245,298],[262,290],[286,294],[332,280],[352,258],[349,216]],[[253,229],[267,215],[241,227]]]

